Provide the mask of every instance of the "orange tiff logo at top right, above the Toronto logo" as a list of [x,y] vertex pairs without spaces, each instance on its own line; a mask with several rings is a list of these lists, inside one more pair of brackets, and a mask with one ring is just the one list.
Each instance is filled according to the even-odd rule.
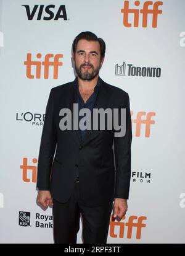
[[[147,20],[148,20],[148,15],[152,14],[152,27],[156,28],[157,27],[157,18],[158,14],[162,14],[162,10],[158,10],[158,6],[162,6],[163,2],[162,1],[146,1],[143,4],[142,9],[130,9],[130,1],[124,1],[124,7],[121,9],[121,13],[123,13],[123,25],[125,27],[131,27],[132,23],[129,22],[128,17],[130,14],[134,15],[134,27],[139,27],[139,15],[142,15],[142,27],[147,27]],[[136,7],[140,6],[139,1],[134,1],[134,5]],[[149,6],[151,8],[149,9]]]

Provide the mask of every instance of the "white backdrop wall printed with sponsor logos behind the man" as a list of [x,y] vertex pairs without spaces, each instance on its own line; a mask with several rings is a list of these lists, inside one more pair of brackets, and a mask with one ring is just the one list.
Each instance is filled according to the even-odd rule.
[[[107,242],[185,242],[185,1],[152,1],[147,27],[141,11],[147,1],[134,2],[1,0],[1,243],[53,242],[52,210],[36,205],[39,143],[49,92],[75,78],[71,46],[75,36],[86,30],[104,38],[107,51],[100,76],[128,92],[133,120],[128,212],[120,223],[110,221]],[[126,10],[124,15],[121,12],[124,3],[141,11],[136,12],[135,27],[134,15],[129,13],[126,20]],[[162,13],[157,14],[157,5]],[[157,27],[152,27],[152,17],[154,21],[157,17]],[[28,53],[38,63],[25,63]],[[56,66],[57,79],[52,63],[48,78],[44,65],[39,68],[47,54],[53,55],[50,61],[55,64],[57,57],[62,62]],[[123,63],[125,73],[120,74],[118,66]],[[147,68],[153,71],[150,76]],[[136,70],[142,71],[141,76],[134,74]]]

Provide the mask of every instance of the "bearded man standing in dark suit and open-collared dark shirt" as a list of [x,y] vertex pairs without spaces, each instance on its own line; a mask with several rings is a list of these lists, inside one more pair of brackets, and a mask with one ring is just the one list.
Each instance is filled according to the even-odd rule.
[[[99,77],[104,56],[104,40],[92,32],[81,32],[72,46],[76,79],[52,88],[47,102],[39,150],[37,201],[44,207],[53,205],[55,243],[76,243],[80,214],[83,242],[106,243],[112,208],[113,217],[118,219],[127,211],[130,101],[124,90]],[[80,114],[84,108],[90,113],[117,109],[119,123],[125,108],[124,136],[115,136],[115,127],[109,130],[106,118],[100,118],[105,129],[98,126],[93,130],[94,117],[87,119]],[[79,129],[75,120],[79,121]],[[91,129],[87,123],[92,124]]]

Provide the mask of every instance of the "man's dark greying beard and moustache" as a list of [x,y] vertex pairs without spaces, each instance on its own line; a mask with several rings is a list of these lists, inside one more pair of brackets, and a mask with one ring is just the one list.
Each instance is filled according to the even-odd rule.
[[[92,73],[88,72],[88,69],[82,73],[81,69],[83,66],[90,66],[92,68]],[[99,70],[101,69],[101,64],[99,64],[99,67],[94,69],[94,66],[92,66],[92,64],[89,63],[83,63],[80,65],[80,68],[76,67],[75,64],[75,70],[76,70],[76,74],[78,74],[78,76],[82,79],[82,80],[87,80],[87,81],[91,81],[92,79],[94,79],[94,77],[97,76],[97,74],[99,74]]]

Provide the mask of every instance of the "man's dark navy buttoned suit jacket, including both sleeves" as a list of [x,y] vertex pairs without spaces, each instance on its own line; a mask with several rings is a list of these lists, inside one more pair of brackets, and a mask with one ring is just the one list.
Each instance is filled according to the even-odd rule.
[[83,141],[78,131],[59,128],[62,108],[69,108],[73,119],[74,99],[74,82],[51,89],[39,149],[37,187],[50,190],[55,200],[65,203],[79,175],[80,200],[85,206],[128,198],[132,138],[128,94],[101,79],[94,108],[126,108],[126,135],[114,137],[114,130],[88,130]]

